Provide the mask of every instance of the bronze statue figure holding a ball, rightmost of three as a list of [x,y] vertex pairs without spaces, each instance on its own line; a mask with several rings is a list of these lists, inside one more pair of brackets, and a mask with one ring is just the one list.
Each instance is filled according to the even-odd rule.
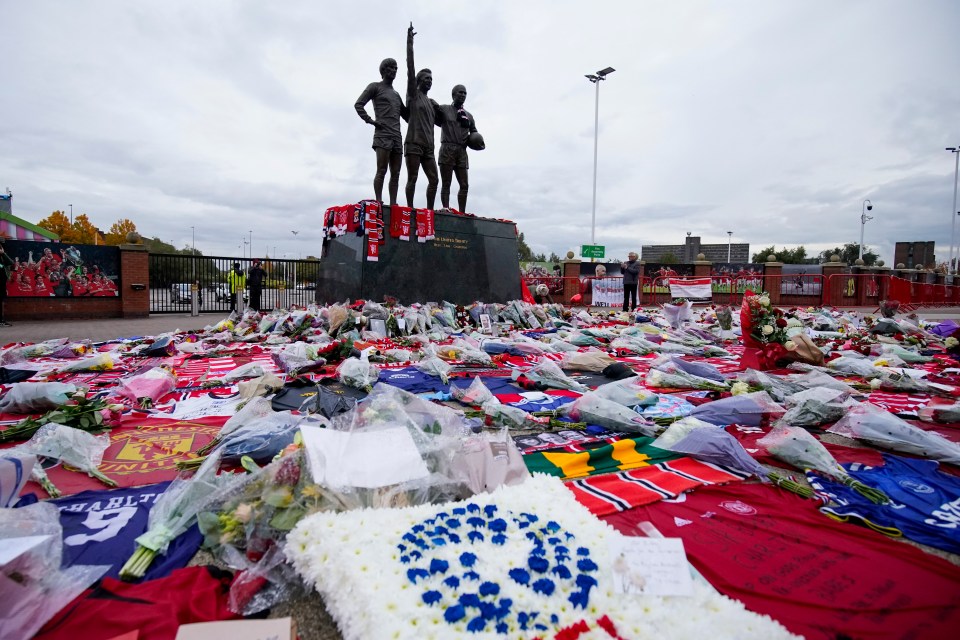
[[452,97],[453,104],[441,105],[437,118],[437,126],[440,127],[440,203],[444,208],[450,207],[450,184],[456,174],[457,185],[460,187],[457,191],[457,205],[460,212],[465,213],[467,190],[470,188],[467,182],[467,170],[470,168],[467,143],[471,134],[476,134],[474,141],[479,134],[473,115],[463,108],[463,103],[467,100],[467,88],[458,84],[453,88]]

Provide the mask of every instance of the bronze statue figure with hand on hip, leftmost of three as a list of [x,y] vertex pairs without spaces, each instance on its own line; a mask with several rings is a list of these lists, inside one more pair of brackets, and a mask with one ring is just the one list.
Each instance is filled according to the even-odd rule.
[[[406,107],[400,94],[393,88],[397,77],[397,61],[386,58],[380,63],[380,82],[371,82],[363,90],[354,108],[367,124],[374,126],[373,150],[377,154],[377,173],[373,178],[373,192],[383,202],[383,180],[390,169],[390,205],[397,204],[400,186],[400,163],[403,158],[403,138],[400,135],[400,118],[406,118]],[[367,113],[366,105],[373,101],[374,118]]]

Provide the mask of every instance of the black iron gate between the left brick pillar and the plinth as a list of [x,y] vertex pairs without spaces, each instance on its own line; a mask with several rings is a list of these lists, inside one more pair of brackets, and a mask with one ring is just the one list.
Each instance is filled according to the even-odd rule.
[[[227,273],[239,264],[246,274],[252,262],[252,258],[151,253],[150,313],[189,313],[191,285],[196,284],[200,312],[227,315],[232,308]],[[260,308],[285,309],[313,302],[318,264],[316,260],[261,259],[267,276]]]

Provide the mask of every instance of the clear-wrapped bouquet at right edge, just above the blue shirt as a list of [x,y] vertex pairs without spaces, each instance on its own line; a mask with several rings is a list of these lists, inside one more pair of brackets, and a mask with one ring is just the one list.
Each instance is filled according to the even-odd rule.
[[915,427],[869,402],[852,407],[827,431],[863,440],[881,449],[912,453],[960,466],[960,445],[938,433]]

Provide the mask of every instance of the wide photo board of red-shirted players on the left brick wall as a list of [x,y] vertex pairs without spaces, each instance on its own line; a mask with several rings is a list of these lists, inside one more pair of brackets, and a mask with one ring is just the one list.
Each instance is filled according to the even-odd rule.
[[120,250],[87,244],[8,240],[7,295],[13,298],[115,298]]

